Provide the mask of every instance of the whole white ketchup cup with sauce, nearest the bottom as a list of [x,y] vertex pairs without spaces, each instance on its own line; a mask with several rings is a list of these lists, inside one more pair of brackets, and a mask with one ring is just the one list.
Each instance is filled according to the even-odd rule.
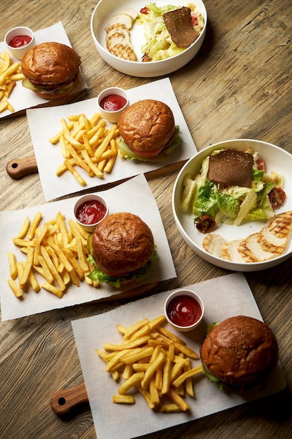
[[204,304],[200,296],[191,290],[176,290],[165,301],[168,323],[181,332],[200,325],[204,316]]

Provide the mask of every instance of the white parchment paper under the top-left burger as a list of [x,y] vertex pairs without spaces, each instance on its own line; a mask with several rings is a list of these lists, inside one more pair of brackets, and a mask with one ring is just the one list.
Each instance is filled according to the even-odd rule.
[[[7,29],[7,31],[8,30],[9,29]],[[67,46],[71,47],[71,43],[68,39],[68,36],[65,32],[65,29],[61,21],[57,22],[53,26],[46,27],[45,29],[34,31],[34,38],[36,40],[36,44],[46,43],[47,41],[56,41],[57,43],[67,44]],[[7,50],[6,45],[4,41],[1,41],[0,52],[4,53],[5,50]],[[81,54],[78,55],[81,56]],[[14,58],[13,55],[11,55],[11,60],[13,62],[20,62],[20,60]],[[81,56],[81,65],[82,65],[82,56]],[[74,86],[74,90],[72,90],[70,94],[78,93],[81,90],[85,90],[85,88],[88,88],[88,86],[80,70],[80,74],[76,86]],[[28,88],[22,87],[21,81],[18,81],[16,83],[15,88],[13,89],[13,92],[9,97],[9,102],[11,102],[11,105],[15,109],[15,113],[17,113],[20,112],[21,110],[28,109],[31,107],[36,107],[36,105],[40,105],[49,101],[37,96],[36,93],[32,92],[32,90],[28,90]],[[3,118],[10,114],[11,112],[8,109],[6,109],[4,112],[0,113],[0,118]]]

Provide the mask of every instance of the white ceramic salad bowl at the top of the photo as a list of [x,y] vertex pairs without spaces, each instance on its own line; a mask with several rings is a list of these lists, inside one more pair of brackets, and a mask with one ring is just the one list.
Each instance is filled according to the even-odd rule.
[[[167,4],[172,4],[174,6],[186,6],[188,2],[180,0],[158,0],[155,2],[157,6],[164,6]],[[168,58],[167,60],[161,61],[153,61],[153,62],[134,62],[123,60],[118,58],[106,49],[105,37],[106,33],[104,32],[104,27],[109,19],[122,11],[123,8],[130,7],[134,8],[138,13],[141,8],[145,6],[143,1],[137,0],[101,0],[95,6],[95,10],[92,13],[90,29],[92,34],[93,42],[99,52],[99,55],[104,58],[104,60],[114,69],[119,72],[131,75],[131,76],[139,76],[141,78],[151,78],[154,76],[162,76],[174,72],[175,70],[180,69],[184,65],[186,65],[193,57],[197,54],[198,50],[202,46],[202,42],[204,41],[204,36],[206,34],[207,27],[207,11],[204,6],[202,0],[194,0],[192,2],[197,6],[204,17],[204,28],[200,36],[195,40],[195,42],[184,50],[179,55],[176,55],[172,58]],[[143,38],[143,28],[139,25],[134,25],[130,31],[130,38],[132,42],[132,47],[137,54],[138,60],[141,59],[143,53],[141,53],[141,44],[144,42]]]

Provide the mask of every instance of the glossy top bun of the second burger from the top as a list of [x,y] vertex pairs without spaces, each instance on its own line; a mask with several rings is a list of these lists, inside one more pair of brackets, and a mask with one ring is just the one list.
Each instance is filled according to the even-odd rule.
[[118,121],[124,142],[133,151],[157,151],[167,147],[174,136],[174,115],[158,100],[139,100],[125,109]]

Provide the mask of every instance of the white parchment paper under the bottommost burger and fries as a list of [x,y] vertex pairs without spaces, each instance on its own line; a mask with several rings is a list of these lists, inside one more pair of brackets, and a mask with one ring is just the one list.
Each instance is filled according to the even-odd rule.
[[[215,321],[221,321],[239,314],[263,320],[242,273],[215,278],[203,283],[188,285],[197,292],[204,302],[204,320],[192,332],[176,332],[197,353],[206,335],[206,327]],[[134,405],[113,404],[111,398],[118,392],[118,384],[105,371],[104,361],[97,356],[96,348],[103,349],[104,342],[119,343],[122,336],[116,330],[116,324],[128,326],[141,318],[155,318],[163,314],[165,299],[170,291],[140,299],[131,304],[90,318],[72,321],[74,337],[81,361],[90,408],[99,439],[135,438],[163,428],[183,424],[184,422],[207,416],[236,405],[247,403],[281,391],[286,386],[284,373],[278,365],[272,372],[264,388],[248,391],[244,396],[224,393],[207,378],[195,381],[195,399],[188,398],[190,413],[162,414],[148,408],[139,394]],[[200,360],[193,360],[193,366]]]

